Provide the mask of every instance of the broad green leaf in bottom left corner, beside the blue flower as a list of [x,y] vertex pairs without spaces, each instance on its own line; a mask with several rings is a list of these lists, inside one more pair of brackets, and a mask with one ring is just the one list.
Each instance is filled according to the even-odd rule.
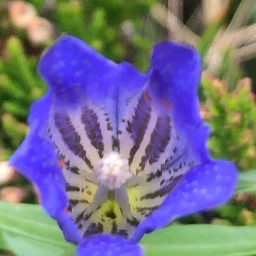
[[17,256],[72,256],[75,246],[67,243],[54,220],[38,205],[0,201],[0,248]]

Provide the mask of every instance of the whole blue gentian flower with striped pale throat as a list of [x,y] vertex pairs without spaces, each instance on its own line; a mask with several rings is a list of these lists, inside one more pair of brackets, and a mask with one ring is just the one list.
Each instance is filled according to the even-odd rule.
[[67,35],[42,56],[49,91],[10,163],[79,255],[140,255],[143,234],[232,195],[235,166],[206,147],[200,63],[194,48],[164,42],[142,74]]

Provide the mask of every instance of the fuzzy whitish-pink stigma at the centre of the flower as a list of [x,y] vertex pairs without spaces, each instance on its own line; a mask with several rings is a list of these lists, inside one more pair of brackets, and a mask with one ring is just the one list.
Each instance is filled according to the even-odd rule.
[[106,154],[94,166],[97,180],[109,189],[119,189],[125,181],[131,177],[128,160],[117,152]]

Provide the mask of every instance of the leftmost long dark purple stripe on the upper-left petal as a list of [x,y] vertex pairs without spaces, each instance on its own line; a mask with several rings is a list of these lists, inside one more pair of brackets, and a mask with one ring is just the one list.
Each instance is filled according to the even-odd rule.
[[76,156],[81,157],[90,169],[93,169],[90,160],[86,157],[86,151],[80,143],[81,138],[70,121],[70,117],[60,113],[55,113],[54,120],[55,125],[61,133],[61,137],[67,147]]

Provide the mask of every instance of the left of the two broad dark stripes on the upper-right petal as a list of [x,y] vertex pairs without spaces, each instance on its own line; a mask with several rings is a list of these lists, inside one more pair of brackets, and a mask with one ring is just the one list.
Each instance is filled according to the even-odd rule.
[[149,103],[144,99],[143,95],[140,97],[138,104],[135,108],[134,116],[131,121],[127,121],[126,130],[131,134],[131,138],[134,141],[134,146],[131,148],[129,165],[131,165],[134,155],[140,148],[140,144],[143,141],[145,131],[148,127],[150,120],[151,108]]

